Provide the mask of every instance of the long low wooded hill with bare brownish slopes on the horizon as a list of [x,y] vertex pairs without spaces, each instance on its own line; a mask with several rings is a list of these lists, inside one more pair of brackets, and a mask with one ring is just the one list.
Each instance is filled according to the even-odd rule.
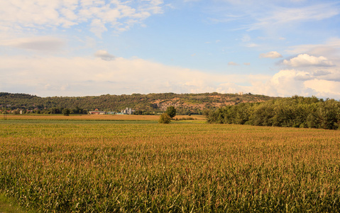
[[175,106],[178,114],[202,114],[205,109],[236,105],[246,102],[265,102],[275,97],[258,94],[219,94],[217,92],[201,94],[131,94],[87,97],[37,97],[31,94],[12,94],[0,92],[0,107],[7,109],[84,109],[91,111],[121,111],[126,107],[136,111],[160,112],[169,106]]

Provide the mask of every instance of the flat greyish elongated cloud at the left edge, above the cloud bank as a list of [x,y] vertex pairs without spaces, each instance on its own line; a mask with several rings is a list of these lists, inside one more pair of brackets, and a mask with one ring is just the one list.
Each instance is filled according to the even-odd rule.
[[0,45],[26,50],[56,51],[65,45],[65,40],[55,37],[33,37],[0,40]]

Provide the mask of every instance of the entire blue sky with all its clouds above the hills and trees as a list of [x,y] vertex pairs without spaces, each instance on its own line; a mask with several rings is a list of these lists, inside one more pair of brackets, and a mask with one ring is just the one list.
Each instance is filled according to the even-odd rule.
[[0,1],[0,92],[340,99],[340,1]]

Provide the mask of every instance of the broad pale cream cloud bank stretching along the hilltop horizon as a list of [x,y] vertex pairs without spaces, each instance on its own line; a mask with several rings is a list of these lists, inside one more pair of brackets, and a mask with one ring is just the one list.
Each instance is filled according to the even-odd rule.
[[105,50],[99,50],[95,55],[97,58],[0,58],[0,72],[3,73],[0,91],[42,97],[251,92],[279,97],[298,94],[340,99],[340,72],[336,67],[315,67],[309,71],[287,69],[275,75],[227,75],[172,67],[139,58],[111,60],[113,55]]

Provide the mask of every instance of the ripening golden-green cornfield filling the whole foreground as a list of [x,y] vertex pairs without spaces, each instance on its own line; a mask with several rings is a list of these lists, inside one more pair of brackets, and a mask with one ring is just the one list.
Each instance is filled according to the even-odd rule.
[[340,131],[132,118],[0,120],[0,192],[37,212],[339,212]]

